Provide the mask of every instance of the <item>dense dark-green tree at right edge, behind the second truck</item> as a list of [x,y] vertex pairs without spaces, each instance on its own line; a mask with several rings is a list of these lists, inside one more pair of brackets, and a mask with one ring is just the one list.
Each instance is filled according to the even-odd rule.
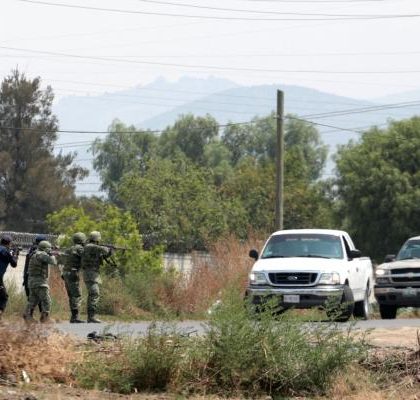
[[419,117],[370,129],[336,162],[339,217],[362,250],[381,260],[419,233]]

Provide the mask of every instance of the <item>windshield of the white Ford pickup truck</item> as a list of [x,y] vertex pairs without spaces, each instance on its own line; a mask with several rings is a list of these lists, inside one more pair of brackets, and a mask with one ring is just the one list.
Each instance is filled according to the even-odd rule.
[[272,236],[261,258],[317,257],[343,258],[338,236],[326,234],[283,234]]

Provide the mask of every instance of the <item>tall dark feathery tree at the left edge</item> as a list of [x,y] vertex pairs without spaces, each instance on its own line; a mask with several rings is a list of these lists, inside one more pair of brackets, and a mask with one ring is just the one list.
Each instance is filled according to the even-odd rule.
[[0,228],[42,230],[45,215],[74,200],[77,179],[87,171],[75,153],[54,155],[57,118],[53,92],[40,78],[18,70],[0,87]]

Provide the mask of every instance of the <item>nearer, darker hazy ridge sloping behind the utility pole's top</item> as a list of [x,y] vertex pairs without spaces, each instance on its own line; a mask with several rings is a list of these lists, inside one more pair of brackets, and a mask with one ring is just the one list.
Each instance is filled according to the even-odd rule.
[[[139,121],[136,125],[142,128],[164,129],[173,124],[179,115],[189,112],[195,115],[209,113],[222,124],[229,121],[248,121],[255,116],[265,116],[275,109],[277,89],[285,93],[286,114],[296,114],[324,125],[358,130],[372,125],[383,125],[391,118],[401,119],[413,115],[413,109],[391,109],[311,118],[311,115],[315,114],[360,109],[376,106],[378,103],[337,96],[300,86],[259,85],[231,88],[214,93]],[[345,144],[350,139],[359,136],[357,133],[348,131],[334,131],[329,127],[317,126],[317,128],[322,133],[324,142],[329,145],[330,152],[334,152],[337,145]]]

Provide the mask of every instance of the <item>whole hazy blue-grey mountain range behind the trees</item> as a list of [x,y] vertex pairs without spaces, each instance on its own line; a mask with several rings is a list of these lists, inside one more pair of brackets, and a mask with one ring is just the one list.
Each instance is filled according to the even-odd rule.
[[[321,92],[301,86],[258,85],[239,86],[234,82],[207,78],[184,77],[177,82],[158,79],[146,86],[106,93],[99,96],[69,96],[58,101],[54,112],[59,118],[61,129],[105,131],[113,119],[139,128],[161,130],[173,124],[181,114],[211,114],[216,120],[227,122],[249,121],[255,116],[265,116],[276,107],[276,92],[285,93],[285,112],[312,120],[317,125],[323,141],[330,148],[330,155],[336,146],[357,139],[358,133],[328,127],[363,130],[372,125],[385,125],[390,119],[409,118],[420,114],[420,107],[361,112],[361,108],[380,104],[397,103],[420,99],[420,92],[407,92],[364,101]],[[359,110],[358,110],[359,109]],[[346,115],[315,116],[342,110],[354,110]],[[357,112],[356,112],[357,111]],[[101,136],[103,135],[96,135]],[[76,133],[62,134],[58,143],[94,140],[95,135]],[[91,169],[92,155],[88,145],[77,147],[79,163]],[[66,147],[63,151],[71,151]],[[59,151],[59,145],[57,146]],[[329,160],[326,174],[331,173],[333,163]],[[94,175],[89,182],[97,181]],[[79,193],[97,190],[98,185],[79,185]],[[89,194],[89,193],[86,193]]]

